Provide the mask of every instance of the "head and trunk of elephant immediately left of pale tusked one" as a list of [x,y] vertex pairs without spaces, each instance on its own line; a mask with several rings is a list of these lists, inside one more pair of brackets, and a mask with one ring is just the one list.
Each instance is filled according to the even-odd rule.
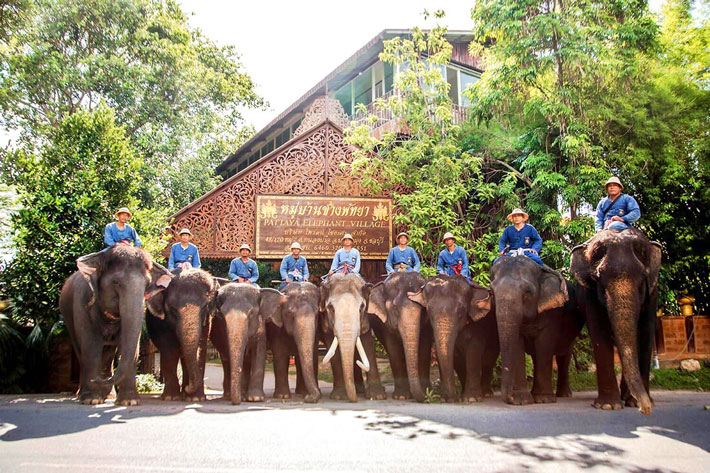
[[308,392],[305,401],[317,402],[320,399],[320,389],[313,372],[313,353],[320,291],[309,282],[292,282],[282,293],[262,291],[261,314],[265,320],[271,320],[276,325],[282,323],[286,333],[293,337]]

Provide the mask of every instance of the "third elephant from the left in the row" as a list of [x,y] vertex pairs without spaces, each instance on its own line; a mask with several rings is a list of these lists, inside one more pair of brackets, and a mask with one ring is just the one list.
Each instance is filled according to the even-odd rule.
[[224,397],[232,404],[264,400],[266,323],[282,326],[280,312],[272,308],[283,296],[248,282],[229,282],[217,291],[210,340],[222,360]]

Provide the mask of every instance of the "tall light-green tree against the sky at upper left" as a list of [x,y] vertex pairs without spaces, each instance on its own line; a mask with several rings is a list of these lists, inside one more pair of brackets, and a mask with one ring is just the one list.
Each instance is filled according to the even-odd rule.
[[[172,0],[37,0],[28,15],[0,38],[2,125],[31,150],[66,115],[106,103],[144,157],[143,206],[189,202],[172,177],[243,140],[240,107],[263,105],[234,48],[191,29]],[[212,169],[190,171],[213,182]]]

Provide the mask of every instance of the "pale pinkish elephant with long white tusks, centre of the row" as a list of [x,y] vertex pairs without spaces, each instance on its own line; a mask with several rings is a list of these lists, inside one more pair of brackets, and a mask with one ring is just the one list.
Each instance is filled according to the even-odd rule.
[[[368,373],[366,396],[383,399],[384,388],[376,366],[375,341],[365,312],[370,286],[358,274],[336,273],[328,277],[320,289],[320,329],[326,345],[330,347],[323,363],[332,359],[333,368],[331,398],[347,398],[350,402],[357,402],[353,364],[357,348],[360,359],[355,364]],[[374,366],[370,365],[371,361]]]

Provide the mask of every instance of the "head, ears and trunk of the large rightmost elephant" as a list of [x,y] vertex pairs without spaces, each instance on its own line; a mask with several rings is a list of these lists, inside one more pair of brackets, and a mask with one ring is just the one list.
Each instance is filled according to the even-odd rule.
[[[652,410],[647,378],[651,360],[650,349],[643,354],[648,359],[640,359],[639,338],[653,335],[639,333],[638,327],[642,314],[655,321],[660,267],[660,245],[636,229],[598,233],[574,248],[570,264],[579,284],[606,310],[624,380],[644,414]],[[650,348],[651,342],[644,340],[644,345]],[[640,370],[641,363],[646,367]]]

